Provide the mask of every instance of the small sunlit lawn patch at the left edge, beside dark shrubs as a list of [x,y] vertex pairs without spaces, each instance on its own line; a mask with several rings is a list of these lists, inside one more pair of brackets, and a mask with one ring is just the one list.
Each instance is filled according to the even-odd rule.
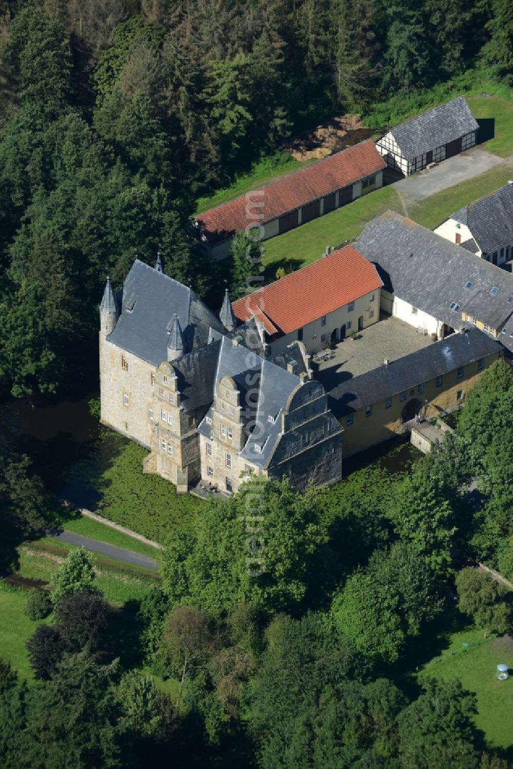
[[12,588],[0,580],[0,657],[12,664],[20,678],[34,681],[25,644],[38,624],[45,620],[28,619],[25,614],[27,599],[28,591]]

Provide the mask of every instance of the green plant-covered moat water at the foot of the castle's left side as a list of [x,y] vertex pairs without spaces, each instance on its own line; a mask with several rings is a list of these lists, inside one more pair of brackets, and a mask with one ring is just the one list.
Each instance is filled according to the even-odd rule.
[[71,480],[95,492],[96,511],[104,518],[165,544],[173,531],[186,531],[193,516],[208,503],[191,494],[177,494],[175,486],[158,475],[143,474],[147,454],[142,446],[105,429]]

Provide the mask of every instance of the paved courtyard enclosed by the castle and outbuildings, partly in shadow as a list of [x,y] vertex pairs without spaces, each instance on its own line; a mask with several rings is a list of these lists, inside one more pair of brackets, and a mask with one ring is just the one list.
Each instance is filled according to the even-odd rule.
[[333,348],[331,360],[311,362],[314,377],[329,392],[346,379],[366,374],[385,363],[403,358],[431,345],[433,340],[424,331],[418,331],[386,313],[380,313],[378,323],[358,331],[355,339],[345,338]]

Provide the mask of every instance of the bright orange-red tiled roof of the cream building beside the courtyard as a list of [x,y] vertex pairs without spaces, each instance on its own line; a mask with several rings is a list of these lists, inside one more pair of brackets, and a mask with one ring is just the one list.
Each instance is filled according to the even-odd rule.
[[255,315],[268,335],[290,334],[382,285],[371,261],[346,245],[238,299],[233,311],[242,323]]

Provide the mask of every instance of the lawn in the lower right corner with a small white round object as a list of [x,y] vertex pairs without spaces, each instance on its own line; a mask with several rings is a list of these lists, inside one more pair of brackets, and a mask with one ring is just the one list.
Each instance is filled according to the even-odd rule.
[[[463,643],[470,644],[463,647]],[[513,759],[511,712],[513,712],[513,677],[498,681],[495,671],[499,663],[513,669],[513,640],[511,638],[488,637],[483,631],[455,633],[451,644],[441,657],[435,657],[419,673],[418,682],[426,677],[459,678],[469,691],[475,691],[478,698],[478,714],[475,725],[484,732],[490,748],[508,752]]]

